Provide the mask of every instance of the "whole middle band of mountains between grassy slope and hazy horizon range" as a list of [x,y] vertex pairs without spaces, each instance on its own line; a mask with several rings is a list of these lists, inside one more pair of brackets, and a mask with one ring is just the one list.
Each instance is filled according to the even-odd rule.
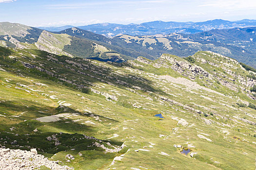
[[[216,25],[217,21],[207,21],[205,25]],[[158,27],[162,25],[158,24]],[[48,32],[22,24],[1,22],[0,46],[39,49],[58,55],[115,62],[138,56],[157,59],[163,53],[187,57],[197,51],[214,51],[256,68],[256,27],[214,29],[195,34],[119,34],[109,38],[77,27]]]

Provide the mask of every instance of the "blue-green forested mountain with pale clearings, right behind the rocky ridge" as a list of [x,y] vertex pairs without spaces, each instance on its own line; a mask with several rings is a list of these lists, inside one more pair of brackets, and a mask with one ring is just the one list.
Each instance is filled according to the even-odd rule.
[[196,34],[122,34],[113,37],[113,40],[130,48],[142,47],[152,53],[171,53],[181,57],[197,51],[214,51],[256,68],[256,27],[216,29]]

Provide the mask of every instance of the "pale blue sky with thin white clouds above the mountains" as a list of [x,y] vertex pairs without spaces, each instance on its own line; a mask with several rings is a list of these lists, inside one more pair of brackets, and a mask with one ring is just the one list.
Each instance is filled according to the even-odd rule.
[[256,0],[0,0],[0,22],[34,27],[256,19]]

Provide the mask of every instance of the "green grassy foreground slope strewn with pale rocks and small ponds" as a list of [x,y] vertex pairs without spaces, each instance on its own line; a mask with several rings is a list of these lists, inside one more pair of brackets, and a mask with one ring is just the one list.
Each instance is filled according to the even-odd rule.
[[[117,64],[0,47],[0,144],[76,170],[254,169],[256,110],[236,104],[255,104],[252,73],[215,53],[192,57]],[[86,136],[126,146],[104,153]]]

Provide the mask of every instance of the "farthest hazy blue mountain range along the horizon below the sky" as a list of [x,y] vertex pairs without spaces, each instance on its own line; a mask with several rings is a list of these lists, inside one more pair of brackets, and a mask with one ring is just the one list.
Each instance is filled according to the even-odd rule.
[[[102,34],[107,37],[113,37],[118,34],[129,35],[154,35],[154,34],[170,34],[170,33],[182,33],[182,34],[196,34],[202,31],[209,31],[213,29],[231,29],[231,28],[244,28],[255,27],[256,20],[243,19],[239,21],[228,21],[223,19],[214,19],[204,22],[164,22],[164,21],[152,21],[144,22],[141,24],[92,24],[86,26],[78,26],[78,28],[87,30],[96,34]],[[62,27],[39,27],[39,29],[59,32],[67,28],[74,26],[67,25]]]

